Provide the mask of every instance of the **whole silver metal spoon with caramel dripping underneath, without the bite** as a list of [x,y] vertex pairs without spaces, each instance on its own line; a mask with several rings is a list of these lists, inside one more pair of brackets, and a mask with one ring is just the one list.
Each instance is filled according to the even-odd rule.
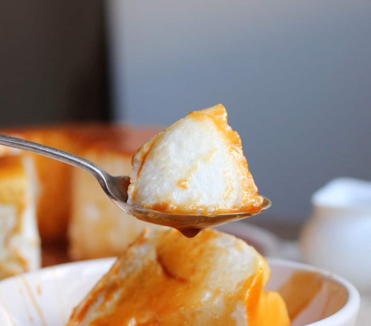
[[256,215],[260,212],[265,211],[267,208],[270,207],[270,205],[272,205],[271,201],[264,197],[261,210],[255,213],[242,212],[208,216],[170,214],[152,211],[150,209],[129,205],[127,203],[128,186],[130,184],[129,176],[111,176],[99,165],[89,160],[83,159],[80,156],[16,137],[10,137],[0,134],[0,144],[51,157],[52,159],[56,159],[79,167],[80,169],[86,170],[91,173],[95,177],[95,179],[98,180],[99,184],[101,185],[104,192],[108,195],[108,197],[111,198],[111,200],[124,212],[145,222],[176,228],[181,231],[186,237],[195,236],[200,231],[200,229],[225,224],[227,222],[233,222],[239,219]]

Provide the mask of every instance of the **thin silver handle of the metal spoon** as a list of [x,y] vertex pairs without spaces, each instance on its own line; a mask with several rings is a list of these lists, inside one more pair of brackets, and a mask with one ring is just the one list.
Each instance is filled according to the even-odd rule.
[[65,162],[79,167],[80,169],[86,170],[93,176],[95,176],[102,188],[106,190],[105,180],[108,179],[110,175],[99,165],[89,160],[83,159],[78,155],[68,153],[54,147],[34,143],[32,141],[24,140],[21,138],[6,136],[3,134],[0,134],[0,144],[51,157],[52,159],[59,160],[61,162]]

